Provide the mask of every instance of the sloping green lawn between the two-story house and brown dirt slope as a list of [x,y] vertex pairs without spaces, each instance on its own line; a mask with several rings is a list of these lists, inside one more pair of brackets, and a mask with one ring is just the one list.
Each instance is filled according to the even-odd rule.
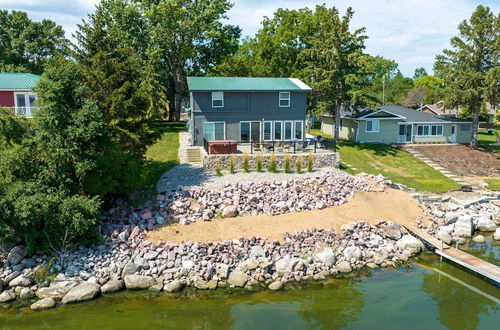
[[[311,135],[322,135],[319,130],[311,130]],[[421,160],[413,157],[406,151],[383,144],[360,144],[349,141],[340,141],[338,146],[341,169],[351,174],[365,172],[382,174],[386,178],[404,184],[420,191],[441,193],[460,187],[453,180],[436,171]]]

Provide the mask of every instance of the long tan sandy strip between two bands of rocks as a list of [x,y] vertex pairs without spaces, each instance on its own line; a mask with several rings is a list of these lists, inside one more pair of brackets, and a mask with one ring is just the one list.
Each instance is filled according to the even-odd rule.
[[359,191],[348,203],[323,210],[198,221],[187,226],[163,227],[149,232],[146,239],[153,242],[209,242],[256,236],[282,240],[285,232],[294,233],[308,228],[340,231],[343,224],[360,220],[372,224],[380,220],[415,224],[417,219],[423,217],[424,210],[419,203],[404,191]]

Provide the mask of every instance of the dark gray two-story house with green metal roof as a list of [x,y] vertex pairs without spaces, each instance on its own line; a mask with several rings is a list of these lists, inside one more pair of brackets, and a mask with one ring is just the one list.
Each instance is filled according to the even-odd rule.
[[188,77],[191,143],[305,137],[307,93],[296,78]]

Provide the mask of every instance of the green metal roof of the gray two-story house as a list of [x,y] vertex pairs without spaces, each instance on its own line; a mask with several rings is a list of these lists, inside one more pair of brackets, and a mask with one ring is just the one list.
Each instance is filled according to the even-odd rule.
[[190,91],[310,91],[297,78],[188,77]]

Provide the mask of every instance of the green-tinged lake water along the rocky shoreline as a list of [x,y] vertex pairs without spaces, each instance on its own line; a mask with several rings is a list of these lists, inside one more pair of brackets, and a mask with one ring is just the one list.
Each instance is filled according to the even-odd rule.
[[[498,264],[500,244],[469,247]],[[500,288],[431,253],[398,269],[269,290],[123,291],[33,312],[0,309],[1,329],[500,329]]]

